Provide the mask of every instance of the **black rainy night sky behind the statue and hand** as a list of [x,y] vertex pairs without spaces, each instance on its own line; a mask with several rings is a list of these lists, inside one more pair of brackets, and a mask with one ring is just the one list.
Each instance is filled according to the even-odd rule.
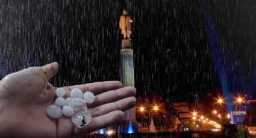
[[[167,101],[193,101],[198,92],[204,99],[222,89],[214,58],[223,61],[232,91],[248,91],[256,84],[256,1],[202,1],[0,0],[0,77],[33,61],[57,61],[55,86],[120,80],[119,17],[126,8],[134,21],[138,97],[157,91]],[[213,54],[202,7],[222,57]]]

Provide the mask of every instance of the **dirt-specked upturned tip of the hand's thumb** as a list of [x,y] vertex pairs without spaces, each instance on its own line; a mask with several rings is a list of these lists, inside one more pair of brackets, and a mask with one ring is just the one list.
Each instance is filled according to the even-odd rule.
[[48,80],[58,72],[58,63],[52,62],[51,64],[46,64],[40,68],[45,74],[46,79]]

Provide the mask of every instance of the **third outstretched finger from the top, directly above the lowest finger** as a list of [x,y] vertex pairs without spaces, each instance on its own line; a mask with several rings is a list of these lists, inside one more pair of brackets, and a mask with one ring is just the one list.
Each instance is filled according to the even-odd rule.
[[114,110],[128,110],[136,106],[136,98],[128,97],[122,100],[114,101],[112,103],[103,104],[101,106],[89,108],[89,112],[93,118],[107,113],[113,112]]

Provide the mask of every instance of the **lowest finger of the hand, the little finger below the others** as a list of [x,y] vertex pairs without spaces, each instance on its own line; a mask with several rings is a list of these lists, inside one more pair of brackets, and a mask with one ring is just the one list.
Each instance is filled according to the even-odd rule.
[[100,130],[101,128],[108,127],[110,125],[114,125],[123,119],[124,113],[120,110],[116,110],[110,113],[107,113],[102,116],[98,116],[92,119],[89,125],[84,126],[83,128],[75,128],[74,135],[80,136],[83,134],[89,134],[93,131]]

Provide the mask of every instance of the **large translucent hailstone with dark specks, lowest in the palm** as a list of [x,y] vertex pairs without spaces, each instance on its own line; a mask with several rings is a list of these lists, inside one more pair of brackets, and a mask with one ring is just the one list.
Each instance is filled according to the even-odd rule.
[[72,122],[76,127],[81,128],[92,121],[92,115],[89,112],[80,110],[72,116]]

